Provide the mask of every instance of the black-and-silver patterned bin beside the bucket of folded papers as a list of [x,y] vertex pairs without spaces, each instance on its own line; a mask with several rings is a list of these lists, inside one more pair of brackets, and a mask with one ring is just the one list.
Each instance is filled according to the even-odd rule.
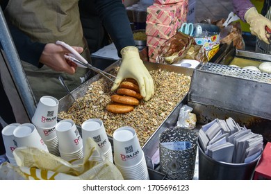
[[[185,150],[172,150],[162,143],[191,143],[191,147]],[[161,173],[167,179],[191,180],[194,176],[195,161],[197,155],[197,133],[182,127],[166,129],[159,137],[159,152]]]

